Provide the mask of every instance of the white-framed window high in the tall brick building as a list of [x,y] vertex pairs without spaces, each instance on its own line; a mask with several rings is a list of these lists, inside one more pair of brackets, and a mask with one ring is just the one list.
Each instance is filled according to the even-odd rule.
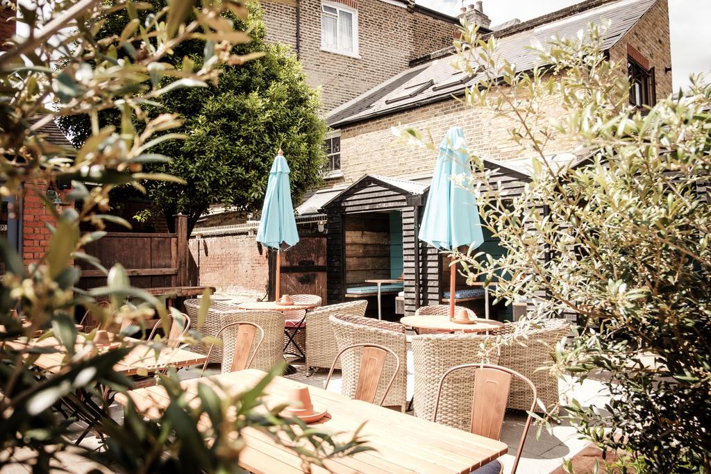
[[321,49],[358,58],[358,10],[321,2]]

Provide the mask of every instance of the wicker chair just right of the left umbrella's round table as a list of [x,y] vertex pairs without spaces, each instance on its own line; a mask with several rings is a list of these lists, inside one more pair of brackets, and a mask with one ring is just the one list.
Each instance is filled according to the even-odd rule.
[[[365,316],[368,301],[358,300],[321,306],[309,311],[306,316],[306,374],[311,374],[311,367],[328,369],[338,354],[338,344],[333,337],[333,329],[328,318],[334,314]],[[340,369],[341,365],[336,365]]]

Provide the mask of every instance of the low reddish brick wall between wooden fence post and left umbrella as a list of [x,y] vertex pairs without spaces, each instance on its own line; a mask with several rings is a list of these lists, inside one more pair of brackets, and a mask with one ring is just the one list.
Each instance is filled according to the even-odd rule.
[[219,293],[267,293],[267,249],[260,254],[254,235],[191,237],[188,246],[201,285],[215,286]]

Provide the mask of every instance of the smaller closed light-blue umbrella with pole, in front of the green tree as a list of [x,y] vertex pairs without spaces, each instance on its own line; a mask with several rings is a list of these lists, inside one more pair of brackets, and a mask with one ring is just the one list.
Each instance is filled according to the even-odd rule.
[[274,163],[272,163],[272,169],[269,171],[262,218],[257,230],[257,242],[277,250],[277,300],[281,286],[281,251],[294,247],[296,242],[299,242],[294,206],[292,205],[292,191],[289,188],[289,165],[287,158],[284,158],[282,153],[282,150],[279,150],[277,157],[274,158]]

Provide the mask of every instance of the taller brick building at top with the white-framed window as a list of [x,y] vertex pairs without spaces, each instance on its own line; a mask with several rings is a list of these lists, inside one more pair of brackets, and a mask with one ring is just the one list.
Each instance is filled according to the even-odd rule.
[[447,48],[459,19],[407,0],[265,0],[267,40],[292,47],[324,110]]

